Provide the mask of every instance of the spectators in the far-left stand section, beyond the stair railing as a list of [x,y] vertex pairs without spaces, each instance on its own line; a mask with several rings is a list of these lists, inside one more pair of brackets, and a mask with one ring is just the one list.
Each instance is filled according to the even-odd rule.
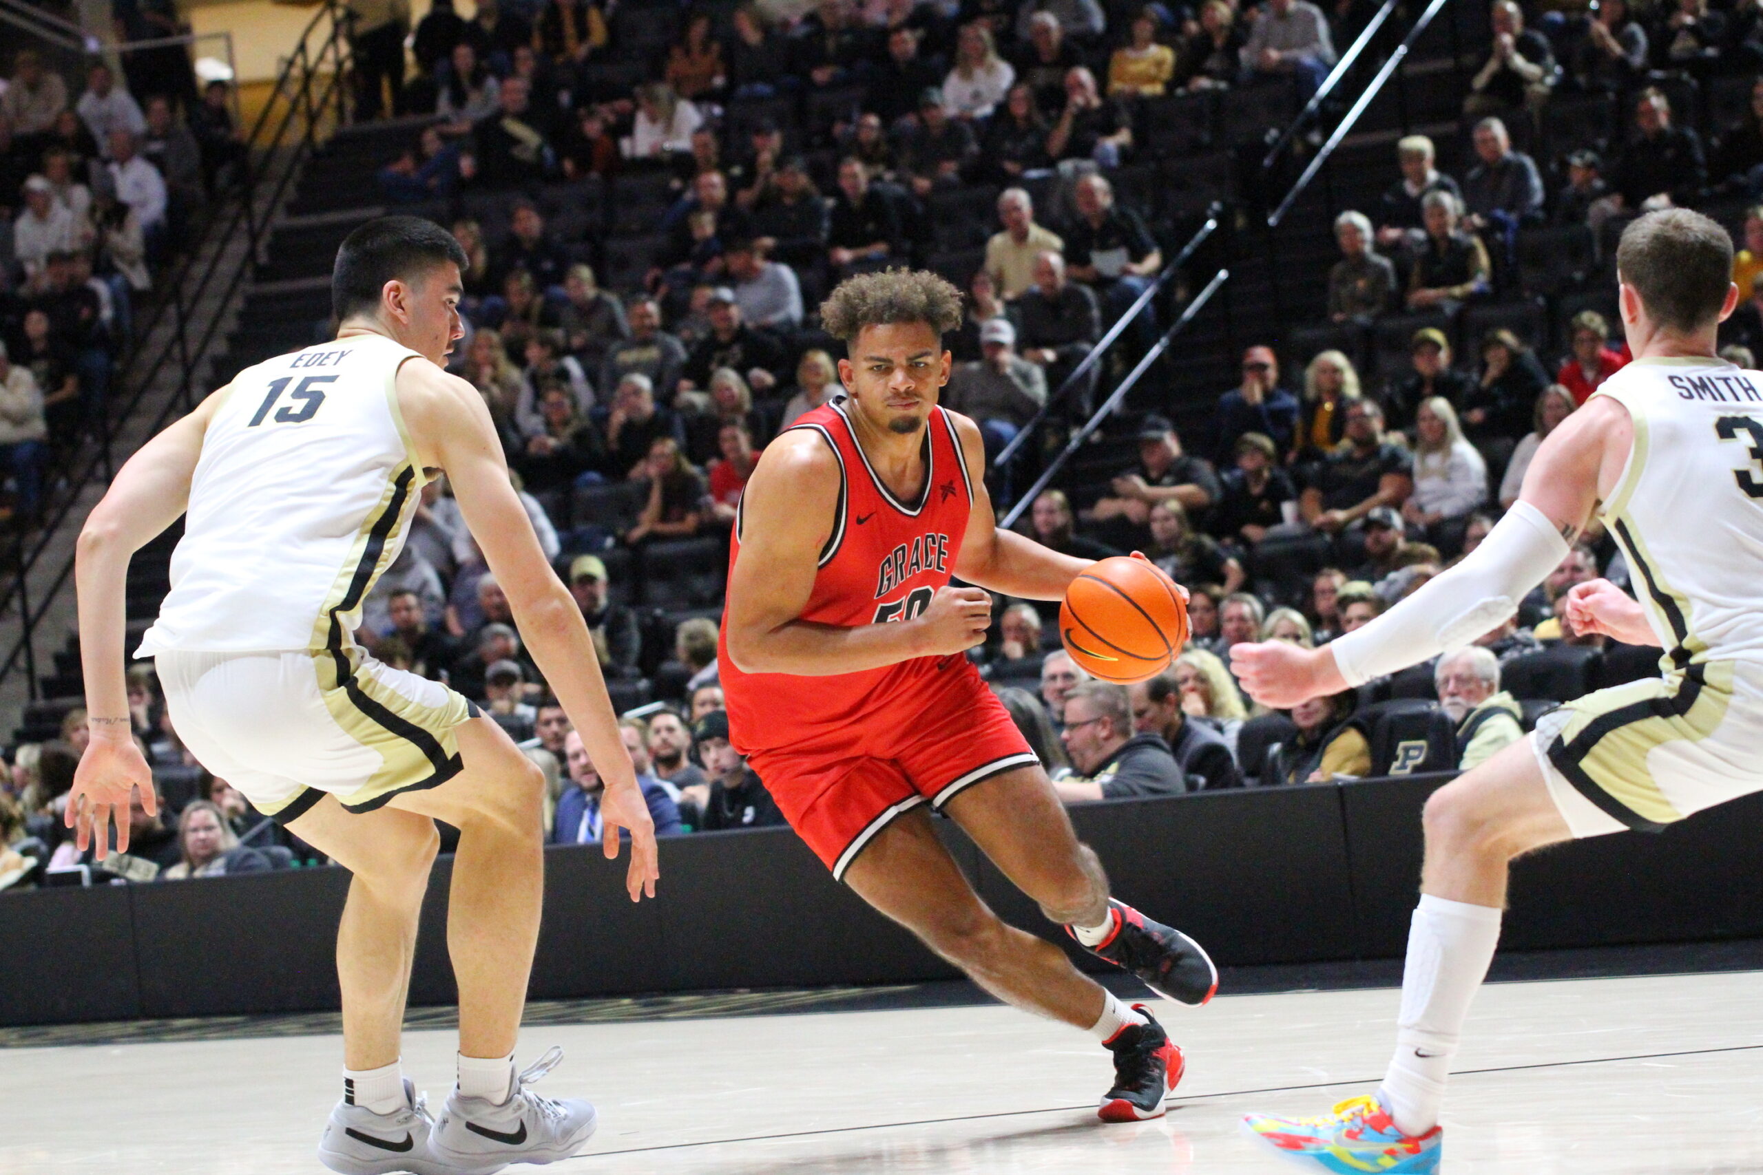
[[[146,7],[146,5],[143,5]],[[160,35],[160,33],[153,33]],[[152,56],[153,51],[145,51]],[[231,88],[129,55],[130,92],[93,60],[83,88],[35,49],[0,79],[0,476],[32,523],[44,477],[97,435],[153,275],[243,155]],[[180,85],[182,78],[182,85]]]

